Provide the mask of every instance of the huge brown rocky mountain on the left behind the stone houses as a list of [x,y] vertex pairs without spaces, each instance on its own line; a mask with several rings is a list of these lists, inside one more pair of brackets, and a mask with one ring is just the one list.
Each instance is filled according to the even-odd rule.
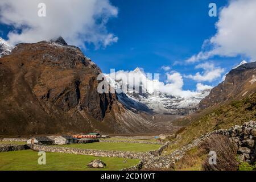
[[21,43],[0,58],[0,135],[171,130],[98,93],[100,68],[57,40]]

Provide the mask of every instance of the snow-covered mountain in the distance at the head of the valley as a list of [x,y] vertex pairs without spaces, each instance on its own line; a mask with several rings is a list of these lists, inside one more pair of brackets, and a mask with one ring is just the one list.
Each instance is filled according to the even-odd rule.
[[[199,102],[210,93],[210,90],[207,89],[193,92],[191,97],[175,97],[171,94],[154,90],[154,84],[157,84],[158,81],[148,80],[141,69],[137,68],[133,72],[129,72],[129,74],[141,77],[140,81],[137,81],[137,83],[139,83],[139,89],[137,89],[137,91],[134,90],[134,86],[129,85],[129,82],[124,81],[118,76],[115,80],[113,80],[110,75],[105,76],[110,86],[116,89],[119,102],[134,111],[187,115],[197,110],[199,108]],[[150,82],[151,86],[145,86],[145,80]],[[122,87],[123,85],[125,85],[125,87]],[[127,91],[123,92],[122,88],[126,88],[126,86]]]

